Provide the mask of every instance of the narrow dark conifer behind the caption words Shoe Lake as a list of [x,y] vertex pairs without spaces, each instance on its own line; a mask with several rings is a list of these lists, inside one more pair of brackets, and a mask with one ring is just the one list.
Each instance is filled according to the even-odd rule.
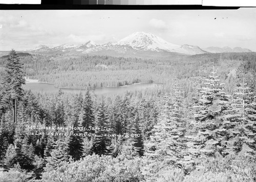
[[111,139],[108,136],[109,132],[109,116],[106,112],[106,106],[104,99],[101,101],[99,110],[98,110],[98,117],[96,122],[96,127],[99,128],[97,130],[96,136],[93,141],[92,152],[98,155],[108,155],[110,154],[110,145]]

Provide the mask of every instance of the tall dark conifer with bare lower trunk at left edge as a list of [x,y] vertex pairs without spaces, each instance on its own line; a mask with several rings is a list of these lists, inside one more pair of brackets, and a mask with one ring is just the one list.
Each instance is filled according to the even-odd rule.
[[6,74],[3,78],[5,98],[2,99],[2,102],[9,101],[12,103],[13,121],[15,123],[17,116],[17,104],[24,96],[24,89],[22,85],[25,84],[25,79],[23,63],[20,63],[19,56],[14,50],[11,50],[9,53],[9,57],[5,65],[5,72]]

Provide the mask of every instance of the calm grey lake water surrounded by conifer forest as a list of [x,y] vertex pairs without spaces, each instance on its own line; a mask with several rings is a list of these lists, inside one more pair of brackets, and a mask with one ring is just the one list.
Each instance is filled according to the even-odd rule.
[[[116,95],[122,94],[126,91],[135,91],[142,90],[146,88],[157,88],[161,87],[163,83],[136,83],[133,85],[126,86],[113,86],[113,87],[96,87],[94,89],[90,89],[96,95]],[[23,85],[25,89],[31,89],[32,92],[41,92],[41,93],[55,93],[58,92],[59,87],[54,86],[50,83],[45,82],[26,82]],[[86,88],[61,88],[64,93],[73,93],[78,94],[80,92],[86,92]]]

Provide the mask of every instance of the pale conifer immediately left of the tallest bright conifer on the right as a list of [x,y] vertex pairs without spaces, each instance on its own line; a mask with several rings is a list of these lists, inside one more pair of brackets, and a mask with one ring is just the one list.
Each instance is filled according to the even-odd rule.
[[151,140],[145,144],[145,173],[150,181],[156,181],[159,175],[169,168],[184,168],[186,154],[185,120],[181,87],[174,80],[172,95],[165,94],[162,99],[161,112],[154,126]]

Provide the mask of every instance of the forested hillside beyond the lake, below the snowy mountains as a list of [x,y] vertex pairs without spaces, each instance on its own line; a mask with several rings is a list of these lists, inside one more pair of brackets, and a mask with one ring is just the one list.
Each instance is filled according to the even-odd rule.
[[[0,59],[3,76],[4,58]],[[199,66],[207,76],[215,66],[220,79],[233,92],[236,69],[243,62],[255,60],[255,53],[201,54],[162,59],[122,58],[109,56],[32,55],[20,57],[25,76],[52,83],[59,87],[122,86],[138,82],[162,82],[171,85],[174,74],[187,92],[193,89],[194,77]],[[249,65],[253,69],[253,65]]]

